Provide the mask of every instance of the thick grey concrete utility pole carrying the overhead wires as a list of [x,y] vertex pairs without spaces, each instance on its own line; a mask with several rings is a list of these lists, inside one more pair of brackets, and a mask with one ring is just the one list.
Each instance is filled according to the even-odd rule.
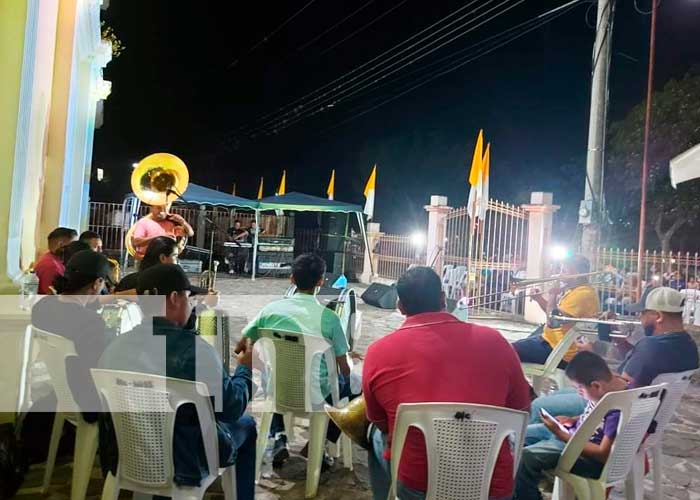
[[591,82],[591,114],[588,125],[585,198],[579,208],[579,224],[583,225],[581,248],[584,255],[593,255],[600,243],[603,221],[603,161],[605,158],[605,125],[608,110],[608,73],[612,45],[614,0],[598,0],[596,37],[593,48]]

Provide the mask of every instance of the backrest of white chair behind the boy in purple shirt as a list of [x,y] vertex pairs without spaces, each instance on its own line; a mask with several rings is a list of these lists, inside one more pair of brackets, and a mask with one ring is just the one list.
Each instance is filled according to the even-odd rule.
[[665,388],[665,384],[660,384],[610,392],[603,396],[586,421],[566,444],[559,459],[558,469],[571,472],[583,447],[601,425],[605,415],[609,411],[620,410],[617,436],[600,475],[600,481],[606,485],[625,481],[637,451],[654,420]]

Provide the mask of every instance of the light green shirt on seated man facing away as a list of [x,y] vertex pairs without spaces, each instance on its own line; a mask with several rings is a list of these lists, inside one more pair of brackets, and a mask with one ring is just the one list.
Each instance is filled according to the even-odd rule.
[[297,292],[292,297],[266,305],[243,329],[243,335],[255,342],[260,338],[260,329],[286,330],[323,337],[333,347],[336,357],[349,350],[348,339],[338,315],[321,305],[314,295],[306,293]]

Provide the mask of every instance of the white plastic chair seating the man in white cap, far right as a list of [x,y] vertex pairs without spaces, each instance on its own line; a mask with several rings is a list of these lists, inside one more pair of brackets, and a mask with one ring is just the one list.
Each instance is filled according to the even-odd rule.
[[683,394],[688,390],[690,377],[697,370],[690,370],[679,373],[662,373],[652,382],[653,385],[666,384],[666,393],[656,412],[654,421],[656,428],[653,434],[649,434],[642,445],[642,449],[637,454],[637,459],[632,471],[627,478],[625,489],[627,498],[641,500],[644,498],[644,466],[645,458],[651,455],[652,458],[652,479],[654,482],[654,498],[662,497],[661,476],[663,473],[663,453],[661,441],[663,440],[666,427],[676,414],[678,405],[683,398]]

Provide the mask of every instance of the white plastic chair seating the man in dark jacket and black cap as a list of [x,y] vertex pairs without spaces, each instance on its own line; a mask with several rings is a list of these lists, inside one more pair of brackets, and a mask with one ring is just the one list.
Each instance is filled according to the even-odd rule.
[[[117,500],[122,489],[173,500],[201,499],[219,476],[225,499],[235,500],[236,468],[219,468],[216,421],[206,384],[119,370],[90,371],[103,409],[111,414],[119,448],[117,473],[107,475],[102,500]],[[196,408],[209,468],[198,487],[173,481],[175,416],[185,404]]]

